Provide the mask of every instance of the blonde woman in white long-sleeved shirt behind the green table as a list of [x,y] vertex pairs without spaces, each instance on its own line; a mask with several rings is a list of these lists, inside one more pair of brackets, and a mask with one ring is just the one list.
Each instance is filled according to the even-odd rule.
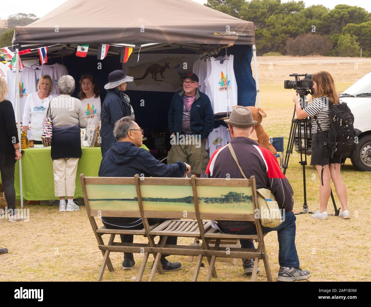
[[41,133],[44,128],[44,114],[49,101],[56,95],[50,94],[53,81],[48,75],[41,76],[37,83],[37,92],[27,96],[23,111],[23,130],[27,131],[31,122],[31,136],[34,144],[42,144]]

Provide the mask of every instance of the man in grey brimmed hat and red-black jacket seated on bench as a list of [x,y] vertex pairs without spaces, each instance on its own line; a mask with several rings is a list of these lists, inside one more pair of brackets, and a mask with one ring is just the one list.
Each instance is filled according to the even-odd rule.
[[[277,231],[279,242],[278,261],[280,270],[278,281],[294,281],[306,279],[309,271],[299,267],[299,258],[295,247],[296,217],[293,214],[293,191],[288,179],[282,173],[277,159],[273,154],[249,138],[255,129],[251,110],[246,107],[233,108],[229,120],[224,120],[229,127],[230,141],[237,160],[247,178],[255,176],[256,188],[267,188],[274,194],[278,206],[283,209],[282,223],[275,227],[263,227],[263,233]],[[210,158],[206,173],[213,178],[243,178],[236,161],[234,161],[228,146],[214,151]],[[248,221],[217,221],[220,229],[232,234],[256,234],[253,222]],[[242,248],[254,248],[249,240],[240,240]],[[251,274],[253,259],[244,259],[245,274]],[[258,271],[260,269],[258,268]]]

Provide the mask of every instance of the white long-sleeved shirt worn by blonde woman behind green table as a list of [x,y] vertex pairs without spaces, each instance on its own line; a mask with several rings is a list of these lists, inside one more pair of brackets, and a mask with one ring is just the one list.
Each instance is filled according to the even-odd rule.
[[[40,99],[37,92],[29,94],[24,106],[22,124],[31,127],[31,137],[33,140],[41,141],[41,133],[44,129],[44,114],[49,101],[56,97],[56,94],[49,94],[45,99]],[[29,121],[31,124],[29,125]],[[28,134],[28,131],[27,131]]]

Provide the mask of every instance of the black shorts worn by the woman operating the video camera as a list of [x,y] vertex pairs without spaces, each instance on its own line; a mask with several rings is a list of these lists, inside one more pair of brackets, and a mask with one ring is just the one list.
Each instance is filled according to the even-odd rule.
[[341,156],[329,157],[325,155],[325,140],[328,138],[328,130],[312,134],[311,165],[329,165],[341,163]]

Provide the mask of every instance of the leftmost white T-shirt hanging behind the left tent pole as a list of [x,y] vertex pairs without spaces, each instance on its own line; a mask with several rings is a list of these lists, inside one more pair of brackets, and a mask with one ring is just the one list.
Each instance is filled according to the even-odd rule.
[[[16,102],[16,70],[8,70],[5,77],[8,84],[8,96],[6,97],[13,105],[14,115],[17,120],[17,102]],[[19,108],[20,120],[22,120],[24,105],[26,104],[27,96],[36,92],[36,75],[35,71],[29,67],[24,67],[19,71]]]

